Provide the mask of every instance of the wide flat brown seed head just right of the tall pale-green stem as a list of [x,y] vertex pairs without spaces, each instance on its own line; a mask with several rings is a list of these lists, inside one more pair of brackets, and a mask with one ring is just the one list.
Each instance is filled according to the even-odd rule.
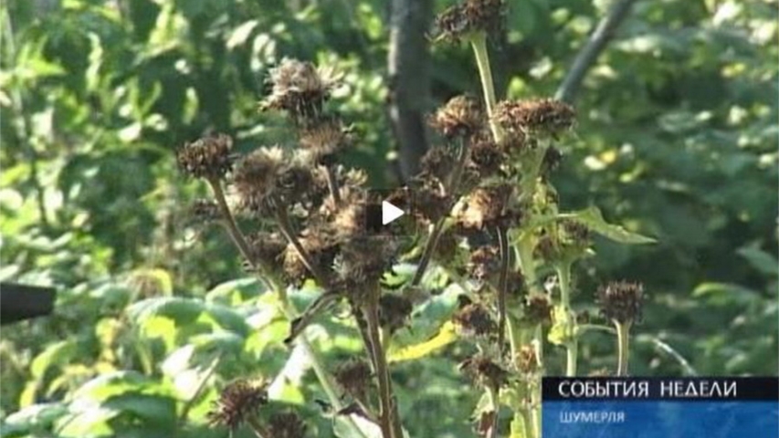
[[574,109],[553,99],[504,100],[495,107],[492,118],[506,130],[556,134],[574,126]]

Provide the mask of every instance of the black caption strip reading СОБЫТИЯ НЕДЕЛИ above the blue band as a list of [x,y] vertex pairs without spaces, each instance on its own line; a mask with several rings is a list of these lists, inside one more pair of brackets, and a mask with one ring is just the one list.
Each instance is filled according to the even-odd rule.
[[544,377],[543,401],[779,401],[777,377]]

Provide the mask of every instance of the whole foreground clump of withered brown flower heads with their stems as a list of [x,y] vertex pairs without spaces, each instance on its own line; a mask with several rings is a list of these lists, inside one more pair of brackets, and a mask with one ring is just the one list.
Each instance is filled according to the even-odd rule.
[[[438,16],[437,36],[483,43],[483,36],[500,26],[502,13],[502,0],[464,0]],[[477,52],[486,50],[483,46],[474,42]],[[336,414],[375,422],[384,438],[403,436],[387,348],[416,318],[414,299],[434,292],[425,290],[423,278],[435,262],[463,291],[451,322],[473,349],[459,369],[494,399],[489,411],[476,416],[479,431],[495,436],[504,390],[521,394],[512,407],[521,406],[522,418],[538,417],[546,330],[550,341],[559,332],[556,343],[568,352],[566,372],[575,375],[576,325],[589,323],[571,306],[570,268],[589,254],[591,223],[558,214],[550,183],[562,160],[555,142],[574,127],[574,109],[553,99],[496,104],[488,96],[488,108],[480,99],[449,99],[428,118],[440,144],[426,152],[416,176],[382,199],[367,188],[364,172],[339,164],[353,132],[329,104],[336,84],[332,72],[285,58],[270,70],[269,82],[260,108],[287,115],[297,134],[294,147],[261,147],[237,157],[233,141],[220,134],[187,143],[176,158],[183,172],[205,179],[216,197],[216,203],[195,203],[193,215],[204,222],[221,219],[247,268],[268,277],[279,297],[287,299],[284,286],[307,280],[321,288],[292,320],[289,342],[334,304],[348,310],[365,350],[363,358],[332,372],[341,390],[340,397],[331,396],[339,405]],[[228,206],[226,193],[235,195],[235,208]],[[384,200],[410,211],[410,224],[389,233],[370,230],[375,207]],[[253,221],[254,229],[241,230],[237,214]],[[414,276],[390,286],[394,276],[388,274],[408,255],[417,257]],[[628,282],[597,292],[602,316],[627,328],[641,318],[642,299],[642,287]],[[619,375],[626,372],[624,328],[617,328]],[[350,404],[340,404],[344,400]],[[306,433],[294,412],[262,411],[269,421],[258,422],[266,404],[264,383],[237,381],[222,392],[209,422],[231,429],[248,422],[258,436]],[[532,431],[532,424],[526,427]]]

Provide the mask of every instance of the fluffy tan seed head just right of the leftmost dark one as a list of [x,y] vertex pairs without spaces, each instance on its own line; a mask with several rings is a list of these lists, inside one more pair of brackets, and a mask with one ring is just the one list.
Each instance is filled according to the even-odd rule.
[[260,148],[244,157],[233,176],[241,205],[253,212],[263,210],[283,165],[284,151],[279,147]]

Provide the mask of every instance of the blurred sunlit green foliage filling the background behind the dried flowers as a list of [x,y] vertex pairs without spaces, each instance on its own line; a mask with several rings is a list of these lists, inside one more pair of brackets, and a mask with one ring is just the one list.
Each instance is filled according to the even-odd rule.
[[[611,4],[507,3],[507,35],[491,49],[513,99],[553,95]],[[0,2],[0,278],[58,287],[55,315],[3,328],[2,436],[226,436],[205,426],[217,389],[277,374],[279,406],[299,405],[317,436],[330,433],[305,355],[281,344],[288,322],[268,310],[272,298],[220,230],[187,222],[189,200],[207,192],[184,181],[173,151],[207,132],[243,151],[291,146],[257,102],[268,68],[298,57],[344,75],[334,100],[360,139],[348,164],[375,186],[397,184],[388,4]],[[576,97],[576,135],[554,180],[563,208],[597,205],[658,239],[597,241],[575,271],[579,308],[595,309],[607,280],[644,283],[637,375],[777,373],[777,37],[771,0],[639,0]],[[468,47],[431,57],[424,109],[479,95]],[[435,333],[449,292],[420,310],[409,339]],[[327,365],[359,349],[342,321],[322,324]],[[454,343],[395,366],[412,436],[472,434],[476,400],[457,354]],[[587,335],[580,354],[585,371],[611,366],[613,341]]]

